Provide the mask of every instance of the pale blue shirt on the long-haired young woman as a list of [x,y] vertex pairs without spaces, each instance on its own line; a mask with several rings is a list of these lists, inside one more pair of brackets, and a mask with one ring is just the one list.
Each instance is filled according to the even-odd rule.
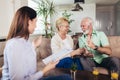
[[36,52],[29,40],[13,38],[4,49],[3,80],[38,80],[43,76],[37,71]]

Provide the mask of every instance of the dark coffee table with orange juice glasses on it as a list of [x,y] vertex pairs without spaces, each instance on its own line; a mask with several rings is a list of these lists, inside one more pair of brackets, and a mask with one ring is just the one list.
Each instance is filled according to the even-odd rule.
[[[64,68],[55,68],[54,69],[56,75],[60,75],[60,74],[69,74],[71,75],[70,69],[64,69]],[[92,72],[90,71],[80,71],[77,70],[76,72],[76,80],[111,80],[109,75],[105,75],[105,74],[99,74],[97,76],[97,78],[92,74]]]

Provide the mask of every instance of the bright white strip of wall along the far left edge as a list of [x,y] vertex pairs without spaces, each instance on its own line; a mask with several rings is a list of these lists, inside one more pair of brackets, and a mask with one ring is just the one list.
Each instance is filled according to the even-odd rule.
[[0,2],[0,37],[6,36],[13,16],[13,4],[11,0]]

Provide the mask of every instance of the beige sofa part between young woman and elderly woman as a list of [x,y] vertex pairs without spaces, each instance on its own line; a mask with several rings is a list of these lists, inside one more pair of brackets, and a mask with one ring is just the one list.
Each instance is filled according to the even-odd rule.
[[43,38],[41,45],[36,48],[38,71],[42,70],[45,67],[45,64],[42,62],[42,59],[52,54],[50,40],[51,40],[50,38]]

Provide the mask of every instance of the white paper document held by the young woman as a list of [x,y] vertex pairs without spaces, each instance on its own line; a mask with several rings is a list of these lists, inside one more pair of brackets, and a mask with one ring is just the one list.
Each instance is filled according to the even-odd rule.
[[60,60],[60,59],[64,58],[65,56],[69,55],[70,52],[72,52],[72,51],[73,50],[64,49],[58,53],[54,53],[54,54],[48,56],[47,58],[43,59],[42,61],[44,64],[48,64],[49,62]]

